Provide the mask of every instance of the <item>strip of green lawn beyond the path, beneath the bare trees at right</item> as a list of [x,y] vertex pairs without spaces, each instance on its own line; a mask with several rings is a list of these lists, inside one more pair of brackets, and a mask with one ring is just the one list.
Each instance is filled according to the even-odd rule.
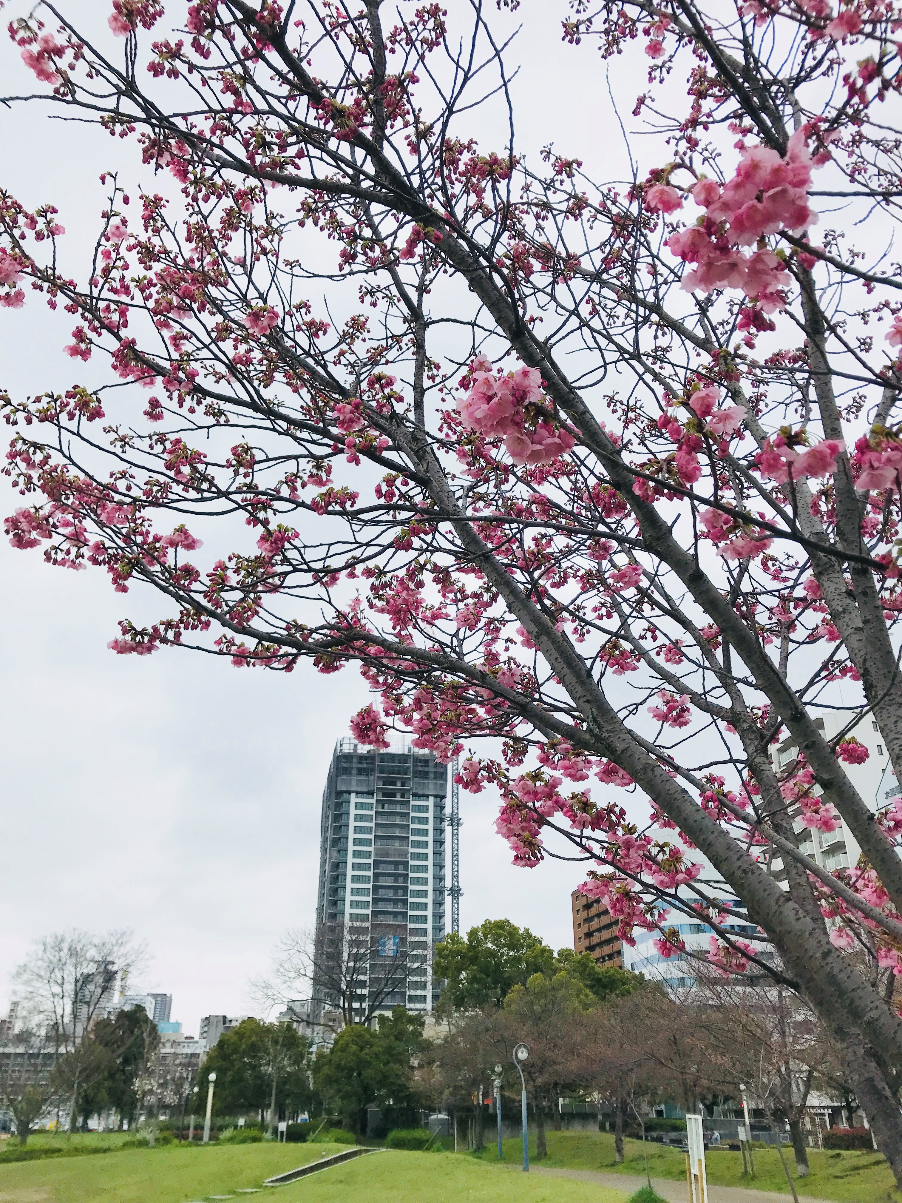
[[[535,1162],[565,1169],[595,1169],[604,1173],[645,1174],[645,1158],[652,1178],[686,1178],[686,1156],[676,1149],[641,1140],[624,1140],[625,1161],[613,1162],[613,1137],[605,1132],[548,1132],[548,1157]],[[793,1150],[784,1146],[789,1172],[795,1178]],[[482,1161],[497,1161],[498,1146],[487,1145]],[[504,1142],[505,1162],[520,1162],[523,1145],[520,1139]],[[529,1143],[529,1157],[535,1157],[534,1142]],[[707,1179],[718,1186],[755,1186],[762,1191],[789,1195],[783,1167],[776,1149],[755,1149],[755,1179],[743,1178],[742,1155],[728,1149],[708,1150],[706,1157]],[[814,1152],[809,1150],[811,1174],[796,1181],[800,1195],[836,1199],[837,1203],[897,1203],[902,1195],[894,1192],[892,1174],[877,1152]]]

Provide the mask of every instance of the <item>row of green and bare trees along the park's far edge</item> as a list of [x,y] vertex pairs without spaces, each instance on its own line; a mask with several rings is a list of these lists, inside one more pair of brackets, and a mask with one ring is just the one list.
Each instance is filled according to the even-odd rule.
[[[799,995],[766,974],[728,973],[702,956],[693,965],[694,986],[675,992],[599,966],[588,953],[554,952],[506,919],[486,920],[435,947],[433,973],[443,992],[428,1029],[425,1014],[394,1007],[369,1024],[345,1024],[314,1048],[293,1023],[250,1018],[219,1038],[197,1075],[196,1065],[178,1062],[160,1071],[160,1038],[143,1008],[96,1014],[108,997],[97,965],[111,965],[113,954],[140,964],[127,934],[70,932],[38,941],[18,971],[31,1021],[2,1050],[0,1092],[23,1143],[54,1113],[67,1116],[70,1131],[105,1113],[114,1113],[120,1127],[146,1115],[152,1132],[165,1113],[183,1131],[188,1109],[206,1103],[215,1072],[215,1116],[256,1114],[269,1134],[279,1118],[304,1113],[337,1118],[360,1134],[372,1108],[381,1128],[451,1109],[471,1116],[480,1146],[495,1066],[503,1095],[518,1094],[511,1054],[521,1042],[529,1045],[522,1069],[539,1158],[548,1125],[560,1127],[562,1097],[601,1104],[622,1160],[624,1132],[643,1133],[658,1103],[712,1116],[718,1103],[737,1107],[744,1084],[762,1121],[788,1128],[803,1177],[811,1092],[831,1094],[848,1113],[859,1106],[843,1050]],[[57,1027],[54,1017],[75,1026],[66,1020]]]

